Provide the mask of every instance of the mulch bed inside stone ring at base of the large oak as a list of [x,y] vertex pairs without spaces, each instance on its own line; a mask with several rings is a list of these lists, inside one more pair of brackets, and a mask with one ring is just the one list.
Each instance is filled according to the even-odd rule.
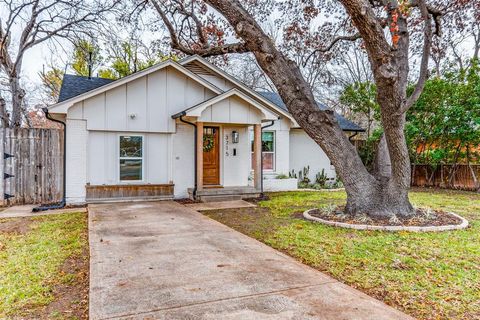
[[394,216],[392,218],[370,217],[367,215],[349,215],[344,213],[344,206],[338,206],[334,210],[311,210],[311,216],[333,222],[370,226],[408,226],[429,227],[458,225],[462,220],[441,210],[417,209],[415,214],[409,217]]

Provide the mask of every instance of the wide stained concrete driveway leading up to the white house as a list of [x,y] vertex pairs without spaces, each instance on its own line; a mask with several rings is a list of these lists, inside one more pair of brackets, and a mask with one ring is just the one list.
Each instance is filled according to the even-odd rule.
[[181,204],[89,206],[90,319],[411,319]]

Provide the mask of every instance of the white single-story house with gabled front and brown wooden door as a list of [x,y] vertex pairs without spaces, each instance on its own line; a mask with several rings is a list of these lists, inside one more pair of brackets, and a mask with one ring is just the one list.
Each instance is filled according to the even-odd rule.
[[[312,180],[322,169],[335,177],[277,94],[255,92],[198,56],[116,81],[65,75],[49,113],[66,122],[67,203],[256,196],[262,162],[269,190],[296,187],[273,178],[306,166]],[[348,135],[363,131],[337,120]]]

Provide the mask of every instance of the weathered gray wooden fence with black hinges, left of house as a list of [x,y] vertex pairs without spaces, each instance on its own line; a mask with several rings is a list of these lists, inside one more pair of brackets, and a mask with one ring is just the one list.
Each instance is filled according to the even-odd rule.
[[0,128],[3,205],[58,202],[63,188],[63,130]]

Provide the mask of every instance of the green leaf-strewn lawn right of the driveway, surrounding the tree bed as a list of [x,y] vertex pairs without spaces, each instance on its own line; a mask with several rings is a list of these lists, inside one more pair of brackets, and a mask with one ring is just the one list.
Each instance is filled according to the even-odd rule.
[[302,220],[344,192],[270,194],[258,208],[206,214],[421,319],[480,319],[480,194],[415,190],[415,205],[456,212],[467,230],[386,233]]

